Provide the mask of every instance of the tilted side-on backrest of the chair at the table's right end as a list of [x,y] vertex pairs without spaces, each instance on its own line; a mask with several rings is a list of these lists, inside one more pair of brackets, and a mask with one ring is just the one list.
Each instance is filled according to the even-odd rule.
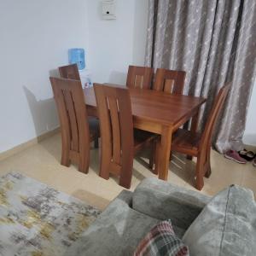
[[216,97],[216,100],[213,103],[212,110],[211,110],[210,115],[207,119],[207,124],[206,124],[205,129],[202,133],[201,143],[200,143],[200,146],[199,146],[199,150],[201,152],[207,152],[207,150],[210,150],[210,148],[211,148],[212,132],[214,130],[215,124],[217,123],[219,113],[220,113],[221,109],[223,108],[224,101],[226,99],[226,96],[229,93],[229,90],[230,90],[230,84],[227,84],[227,85],[224,85],[218,91],[218,96]]

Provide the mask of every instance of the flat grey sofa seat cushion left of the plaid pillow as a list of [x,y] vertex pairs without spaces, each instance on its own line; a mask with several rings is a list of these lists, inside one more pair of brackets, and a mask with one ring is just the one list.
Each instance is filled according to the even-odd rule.
[[130,191],[122,191],[65,255],[131,256],[159,219],[131,208]]

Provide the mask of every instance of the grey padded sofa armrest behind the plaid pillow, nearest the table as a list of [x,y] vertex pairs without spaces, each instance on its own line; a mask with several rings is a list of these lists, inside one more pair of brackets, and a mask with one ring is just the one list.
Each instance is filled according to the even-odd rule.
[[211,197],[150,177],[143,180],[132,196],[132,208],[152,218],[171,219],[184,230],[199,215]]

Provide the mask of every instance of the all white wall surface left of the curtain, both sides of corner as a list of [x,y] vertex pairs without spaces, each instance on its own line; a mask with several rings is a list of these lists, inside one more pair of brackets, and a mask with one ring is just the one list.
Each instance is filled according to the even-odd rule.
[[0,1],[0,152],[58,126],[49,74],[67,49],[86,50],[95,82],[125,84],[143,65],[148,0],[118,0],[117,20],[102,20],[100,0]]

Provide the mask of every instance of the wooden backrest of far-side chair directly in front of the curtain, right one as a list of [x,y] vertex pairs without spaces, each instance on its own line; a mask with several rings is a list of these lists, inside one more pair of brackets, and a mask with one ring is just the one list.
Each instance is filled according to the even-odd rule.
[[166,93],[183,94],[186,73],[165,68],[156,70],[154,79],[154,90],[162,90]]

